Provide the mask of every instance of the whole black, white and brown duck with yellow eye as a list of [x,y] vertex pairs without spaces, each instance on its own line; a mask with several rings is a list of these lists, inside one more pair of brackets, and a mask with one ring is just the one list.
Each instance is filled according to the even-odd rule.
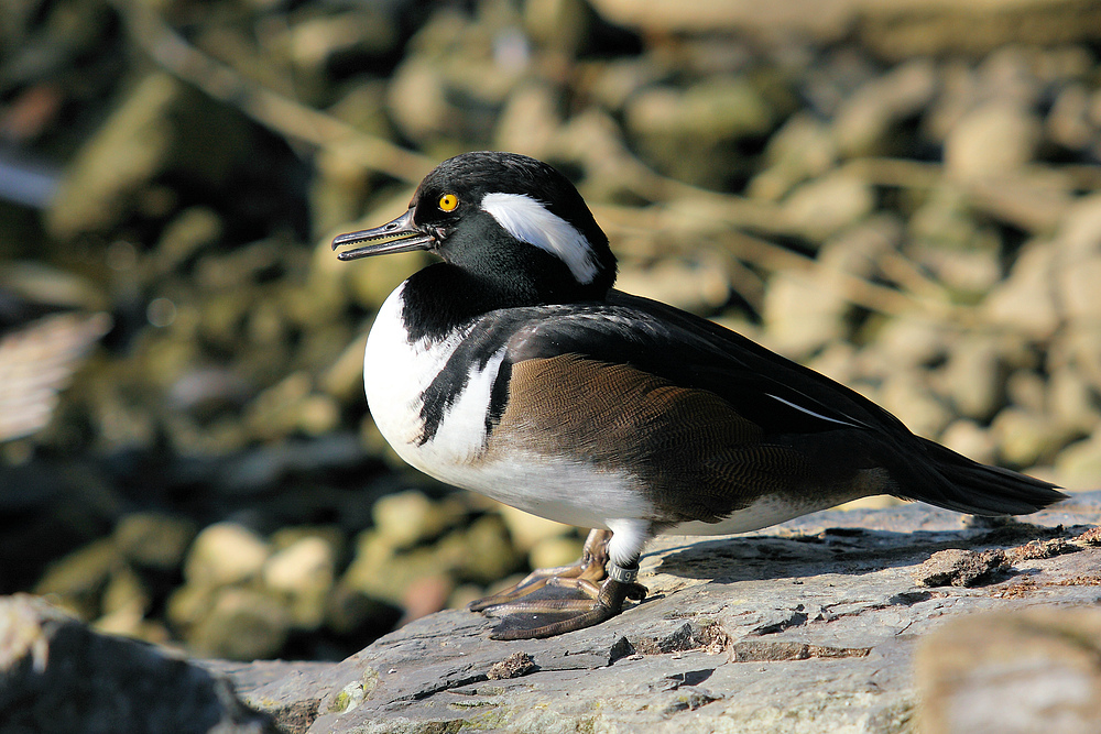
[[[367,244],[362,244],[367,243]],[[978,515],[1064,499],[912,434],[855,392],[672,306],[612,288],[615,258],[573,184],[512,153],[429,173],[408,210],[349,234],[341,260],[427,250],[379,310],[363,376],[410,464],[595,528],[575,565],[470,609],[493,636],[546,637],[642,600],[659,533],[743,533],[890,494]]]

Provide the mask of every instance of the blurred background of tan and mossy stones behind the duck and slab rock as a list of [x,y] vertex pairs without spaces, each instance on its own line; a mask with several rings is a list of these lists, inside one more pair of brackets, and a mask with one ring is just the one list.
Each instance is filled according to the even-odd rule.
[[0,0],[0,593],[341,659],[577,558],[362,395],[425,260],[329,241],[436,162],[565,171],[620,287],[985,462],[1101,486],[1087,0]]

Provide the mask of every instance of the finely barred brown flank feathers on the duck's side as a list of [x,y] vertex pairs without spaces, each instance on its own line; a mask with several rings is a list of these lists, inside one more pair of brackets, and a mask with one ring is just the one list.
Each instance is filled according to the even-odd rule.
[[655,515],[715,523],[763,494],[808,485],[815,472],[729,403],[625,364],[576,354],[513,365],[494,450],[566,456],[641,480]]

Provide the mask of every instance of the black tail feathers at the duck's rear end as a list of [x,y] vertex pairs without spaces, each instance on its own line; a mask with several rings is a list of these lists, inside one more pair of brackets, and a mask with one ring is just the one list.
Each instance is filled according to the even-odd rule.
[[[927,452],[904,489],[908,500],[972,515],[1027,515],[1066,500],[1055,484],[1009,469],[988,467],[928,439],[918,439]],[[916,474],[916,475],[915,475]]]

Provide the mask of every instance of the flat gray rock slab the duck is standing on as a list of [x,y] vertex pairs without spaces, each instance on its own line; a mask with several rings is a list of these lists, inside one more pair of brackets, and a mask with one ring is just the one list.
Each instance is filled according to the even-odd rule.
[[[1099,518],[1094,492],[1027,522],[913,504],[662,538],[643,559],[650,596],[589,629],[497,642],[492,621],[447,611],[338,664],[208,665],[318,734],[912,731],[914,654],[945,620],[1101,601]],[[967,572],[945,572],[957,557]]]

